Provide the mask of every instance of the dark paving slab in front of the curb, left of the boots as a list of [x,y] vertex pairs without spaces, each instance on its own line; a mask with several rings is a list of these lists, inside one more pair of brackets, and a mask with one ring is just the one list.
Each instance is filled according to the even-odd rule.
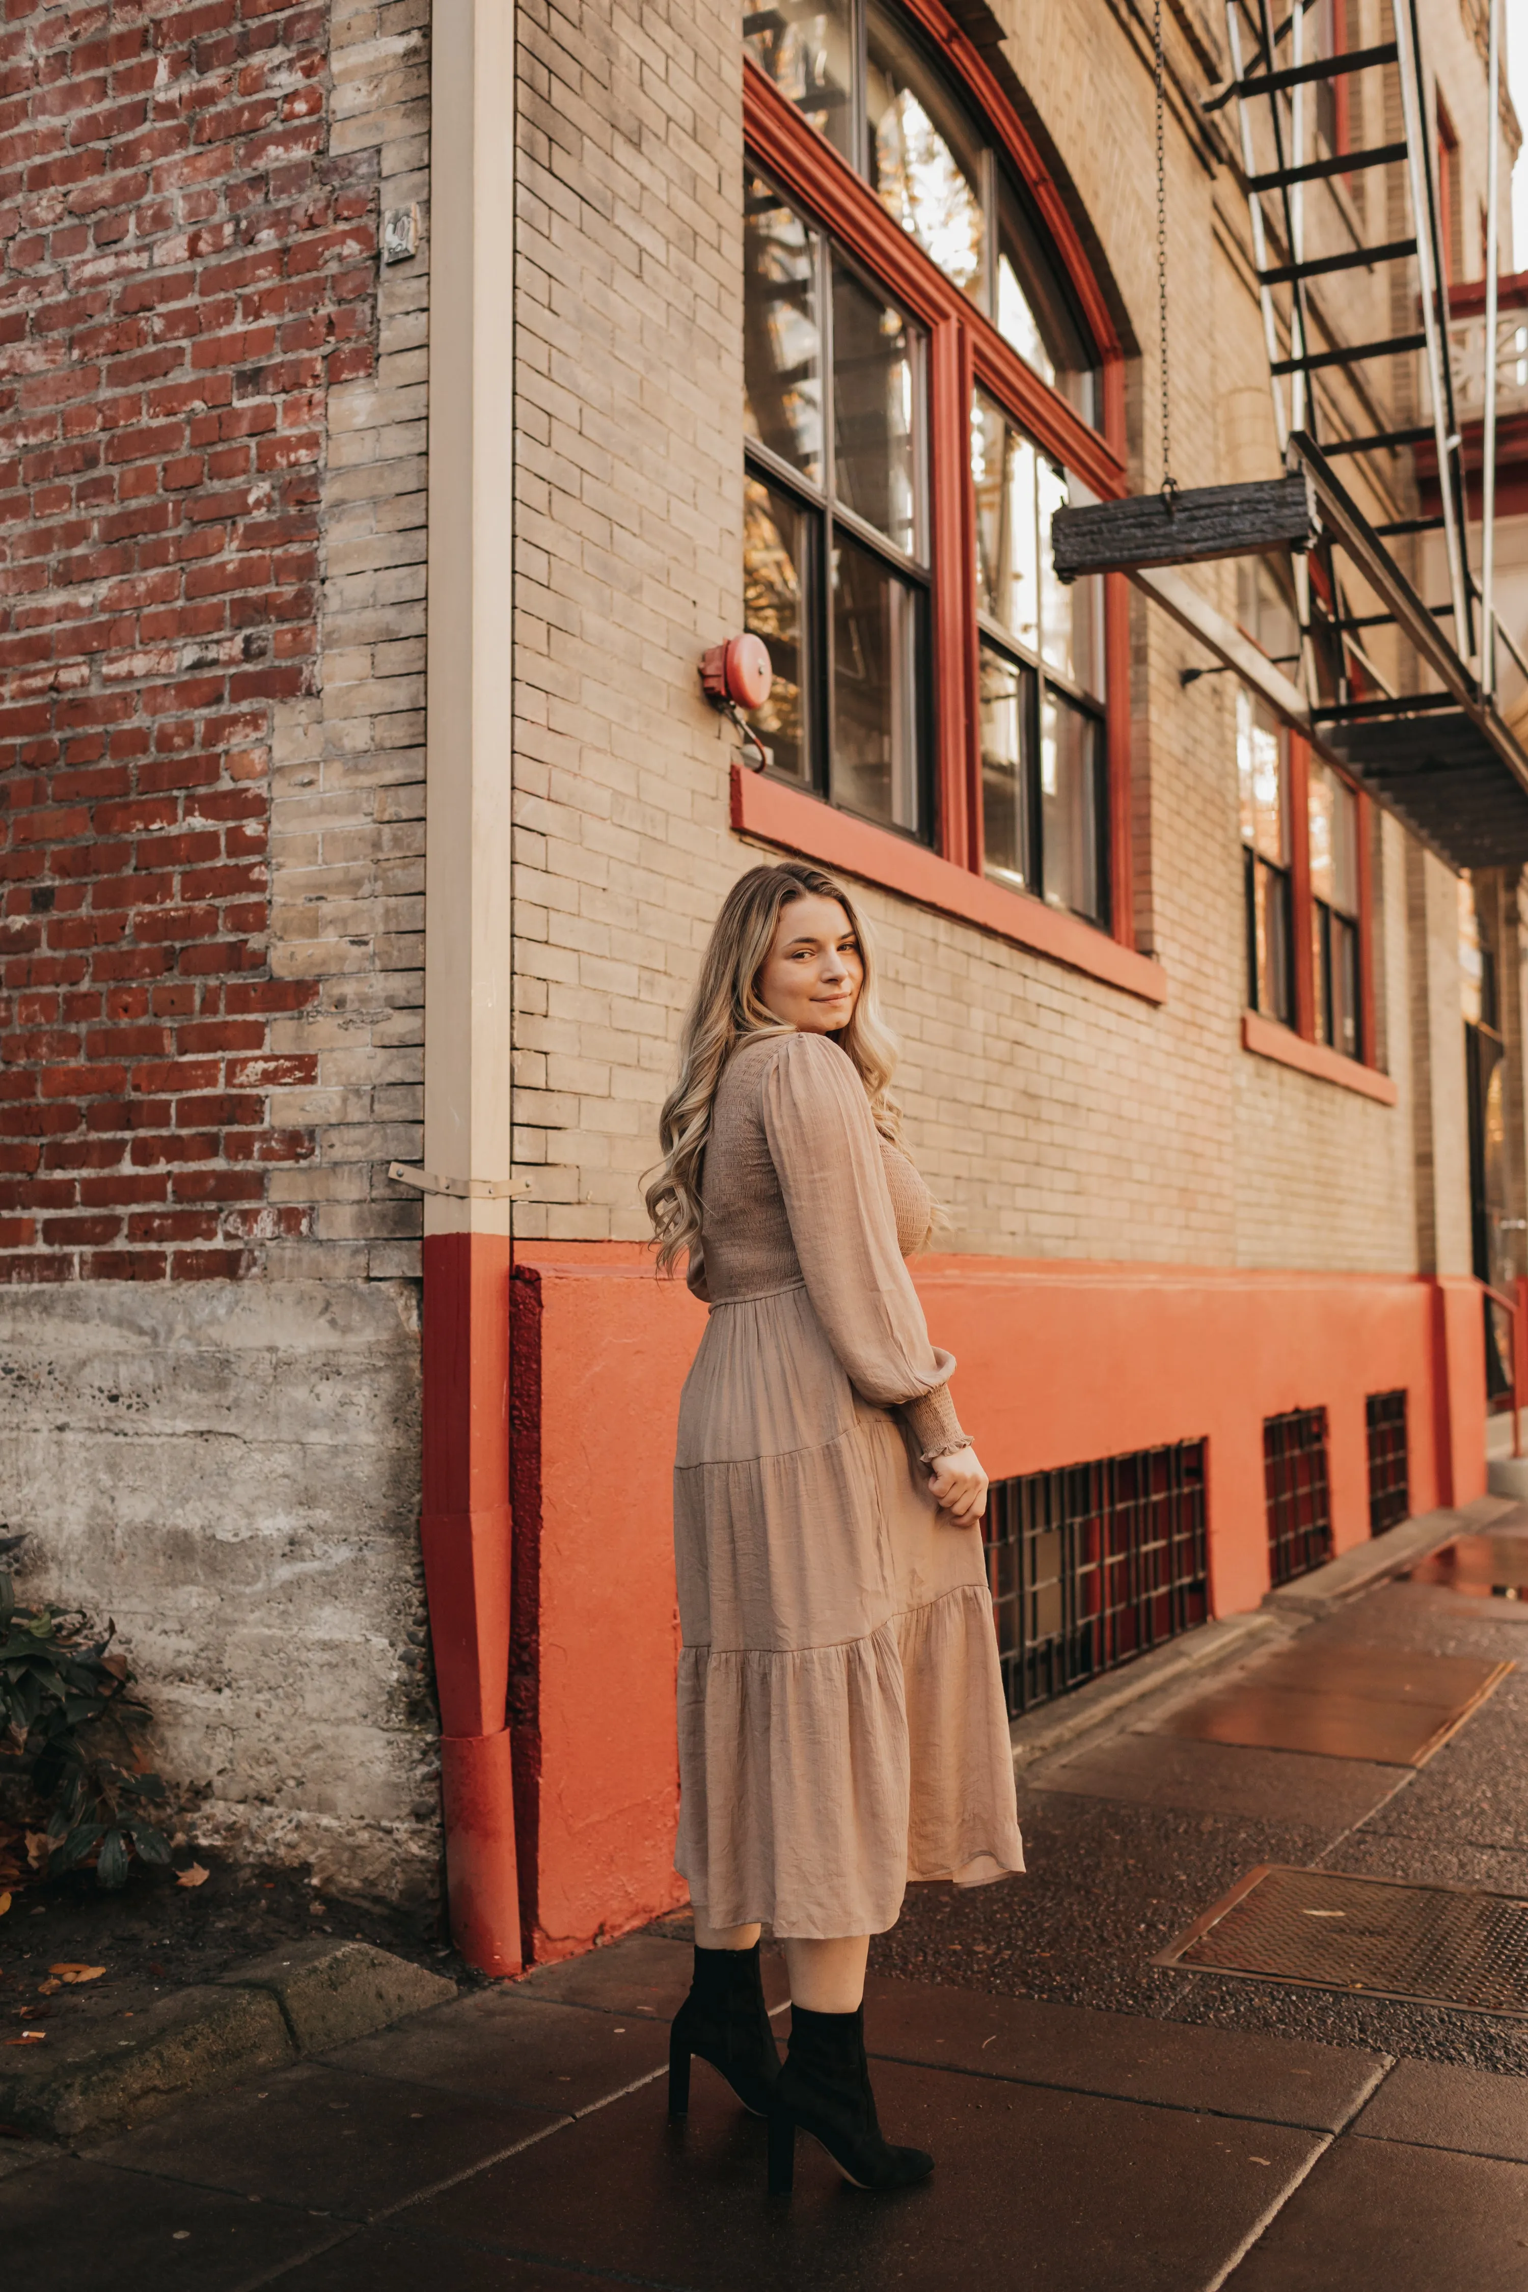
[[545,2109],[506,2109],[399,2077],[296,2063],[261,2090],[204,2099],[87,2154],[156,2175],[160,2191],[167,2182],[195,2182],[369,2221],[559,2122]]

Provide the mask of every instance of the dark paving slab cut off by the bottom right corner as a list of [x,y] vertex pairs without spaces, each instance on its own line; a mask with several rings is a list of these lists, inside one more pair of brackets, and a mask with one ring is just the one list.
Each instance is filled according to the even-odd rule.
[[1528,2166],[1340,2141],[1226,2292],[1523,2292]]

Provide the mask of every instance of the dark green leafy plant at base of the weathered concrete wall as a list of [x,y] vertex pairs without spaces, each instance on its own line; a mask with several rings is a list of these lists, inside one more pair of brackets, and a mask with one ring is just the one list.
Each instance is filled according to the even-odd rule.
[[[0,1563],[23,1536],[0,1538]],[[167,1797],[135,1763],[149,1710],[133,1673],[80,1609],[18,1607],[0,1565],[0,1783],[21,1785],[46,1813],[48,1870],[94,1859],[101,1886],[121,1886],[128,1861],[167,1863],[170,1843],[149,1818]]]

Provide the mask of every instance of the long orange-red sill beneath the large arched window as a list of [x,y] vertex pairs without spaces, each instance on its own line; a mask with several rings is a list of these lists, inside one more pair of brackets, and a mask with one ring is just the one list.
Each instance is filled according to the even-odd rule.
[[[1074,972],[1102,979],[1141,1002],[1166,1002],[1166,979],[1161,965],[1150,956],[1139,956],[1134,947],[1123,947],[1109,933],[1084,924],[1077,915],[1047,908],[1040,898],[1008,892],[985,876],[974,876],[939,853],[921,843],[907,843],[887,827],[873,827],[848,811],[800,788],[786,788],[779,779],[733,766],[733,827],[738,834],[756,837],[761,843],[777,843],[781,850],[820,859],[822,866],[843,869],[864,882],[900,892],[921,908],[953,915],[978,931],[992,931],[999,940],[1026,947],[1031,953],[1049,956]],[[1345,1061],[1347,1063],[1347,1061]]]

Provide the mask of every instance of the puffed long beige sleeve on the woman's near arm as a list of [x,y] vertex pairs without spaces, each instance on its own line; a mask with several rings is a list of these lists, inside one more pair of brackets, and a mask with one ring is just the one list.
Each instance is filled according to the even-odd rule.
[[836,1043],[781,1041],[763,1082],[763,1125],[806,1295],[850,1382],[900,1410],[921,1453],[958,1446],[964,1435],[946,1391],[955,1361],[928,1341],[871,1102]]

